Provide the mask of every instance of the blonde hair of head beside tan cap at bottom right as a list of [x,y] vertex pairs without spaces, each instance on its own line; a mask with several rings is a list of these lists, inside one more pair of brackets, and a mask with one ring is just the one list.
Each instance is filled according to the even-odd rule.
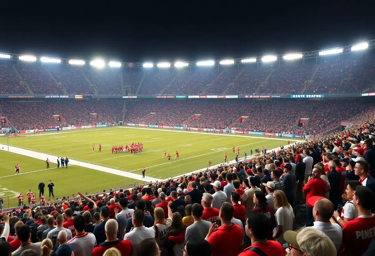
[[336,256],[336,247],[331,239],[319,229],[307,227],[297,234],[297,243],[306,255]]

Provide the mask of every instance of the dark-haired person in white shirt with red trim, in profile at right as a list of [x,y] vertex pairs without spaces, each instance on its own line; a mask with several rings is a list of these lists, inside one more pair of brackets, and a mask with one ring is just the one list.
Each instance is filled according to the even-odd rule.
[[341,227],[344,227],[345,222],[358,217],[358,210],[353,204],[353,195],[356,192],[356,186],[361,186],[361,183],[357,180],[348,181],[347,188],[345,189],[346,195],[342,195],[342,198],[348,201],[345,203],[344,208],[342,208],[341,214],[338,211],[333,212],[333,216]]

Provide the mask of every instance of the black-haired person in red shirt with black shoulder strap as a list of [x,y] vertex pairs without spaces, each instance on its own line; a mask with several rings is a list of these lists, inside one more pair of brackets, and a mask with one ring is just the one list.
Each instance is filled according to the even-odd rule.
[[[250,212],[246,220],[245,232],[251,239],[251,246],[243,250],[239,256],[258,256],[253,250],[261,250],[264,255],[268,256],[285,256],[284,247],[279,242],[268,241],[267,234],[270,229],[270,221],[263,213]],[[251,249],[256,247],[257,249]]]

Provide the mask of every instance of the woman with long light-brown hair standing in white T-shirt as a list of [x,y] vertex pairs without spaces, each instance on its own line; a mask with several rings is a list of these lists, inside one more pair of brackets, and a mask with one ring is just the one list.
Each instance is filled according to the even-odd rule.
[[284,248],[288,248],[288,243],[284,240],[284,233],[287,230],[293,230],[294,213],[292,206],[288,203],[287,196],[281,190],[273,192],[275,199],[275,218],[277,227],[274,229],[273,238]]

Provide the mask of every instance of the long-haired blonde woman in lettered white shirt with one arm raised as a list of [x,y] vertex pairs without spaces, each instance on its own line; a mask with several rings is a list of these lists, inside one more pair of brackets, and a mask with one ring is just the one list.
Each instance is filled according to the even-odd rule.
[[[155,230],[155,239],[156,243],[161,250],[161,255],[167,255],[166,249],[164,248],[164,241],[169,236],[169,231],[171,230],[173,213],[171,209],[172,202],[168,203],[168,218],[164,217],[164,210],[161,207],[156,207],[154,209],[154,225],[153,229]],[[181,220],[182,222],[182,220]]]

